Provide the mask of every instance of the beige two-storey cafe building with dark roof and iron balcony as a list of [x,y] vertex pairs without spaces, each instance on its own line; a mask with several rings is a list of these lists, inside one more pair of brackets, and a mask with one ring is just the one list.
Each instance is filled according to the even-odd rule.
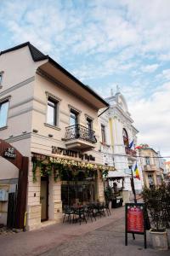
[[[104,201],[98,111],[109,104],[30,43],[1,52],[0,83],[0,138],[29,157],[27,230],[59,221],[65,205]],[[18,169],[0,161],[0,189],[15,191]],[[7,203],[0,212],[5,223]]]

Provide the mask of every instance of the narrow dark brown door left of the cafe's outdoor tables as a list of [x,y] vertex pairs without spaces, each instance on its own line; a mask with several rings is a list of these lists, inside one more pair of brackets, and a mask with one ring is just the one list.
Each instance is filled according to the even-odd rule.
[[40,203],[42,204],[41,220],[48,220],[48,177],[41,177]]

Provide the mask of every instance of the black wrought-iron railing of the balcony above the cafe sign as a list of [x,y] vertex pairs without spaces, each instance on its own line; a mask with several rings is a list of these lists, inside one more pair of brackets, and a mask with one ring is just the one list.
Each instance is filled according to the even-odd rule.
[[94,131],[82,125],[71,125],[65,128],[65,141],[82,139],[88,143],[97,143]]

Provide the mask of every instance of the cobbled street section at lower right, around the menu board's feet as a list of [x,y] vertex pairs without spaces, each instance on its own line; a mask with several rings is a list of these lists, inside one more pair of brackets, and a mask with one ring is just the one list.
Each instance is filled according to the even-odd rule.
[[[149,234],[148,234],[149,235]],[[135,235],[133,241],[131,234],[128,234],[128,246],[124,245],[124,218],[107,224],[88,234],[79,236],[71,241],[50,249],[42,256],[169,256],[168,251],[156,251],[151,248],[149,236],[147,237],[147,249],[144,249],[144,236]]]

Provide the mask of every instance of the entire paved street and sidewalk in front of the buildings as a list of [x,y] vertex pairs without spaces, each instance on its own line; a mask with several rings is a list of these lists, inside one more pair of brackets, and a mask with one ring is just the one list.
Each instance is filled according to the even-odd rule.
[[124,246],[124,207],[113,209],[111,216],[98,218],[88,224],[54,224],[41,230],[0,236],[1,256],[66,256],[66,255],[170,255],[170,251],[144,250],[143,236],[128,235]]

